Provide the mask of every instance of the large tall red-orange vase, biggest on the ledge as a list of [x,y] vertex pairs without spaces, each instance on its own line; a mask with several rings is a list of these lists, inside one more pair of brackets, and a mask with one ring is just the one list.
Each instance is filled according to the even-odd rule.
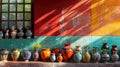
[[62,49],[63,60],[65,62],[69,62],[74,54],[73,49],[71,48],[70,44],[65,44],[64,48]]

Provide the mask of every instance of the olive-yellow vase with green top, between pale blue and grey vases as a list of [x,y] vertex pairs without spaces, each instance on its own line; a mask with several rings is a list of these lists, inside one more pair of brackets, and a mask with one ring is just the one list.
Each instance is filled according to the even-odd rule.
[[88,63],[91,60],[91,56],[88,52],[89,46],[84,46],[84,55],[83,55],[83,62]]

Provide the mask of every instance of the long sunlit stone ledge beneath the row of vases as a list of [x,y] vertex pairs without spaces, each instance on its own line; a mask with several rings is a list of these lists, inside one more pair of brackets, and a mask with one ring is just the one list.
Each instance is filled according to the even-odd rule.
[[0,62],[0,67],[120,67],[120,63]]

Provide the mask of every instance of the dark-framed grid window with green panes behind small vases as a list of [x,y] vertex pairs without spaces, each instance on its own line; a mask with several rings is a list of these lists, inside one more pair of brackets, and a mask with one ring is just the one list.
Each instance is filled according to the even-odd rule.
[[0,27],[29,27],[33,32],[32,3],[33,0],[0,0]]

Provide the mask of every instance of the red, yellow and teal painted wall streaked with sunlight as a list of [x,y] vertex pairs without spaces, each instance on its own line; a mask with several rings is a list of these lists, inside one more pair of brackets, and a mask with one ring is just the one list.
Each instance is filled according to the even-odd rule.
[[[119,0],[114,0],[114,3],[113,0],[83,0],[82,2],[81,0],[34,1],[34,30],[36,37],[34,39],[1,39],[0,48],[9,48],[9,50],[12,48],[33,49],[32,46],[35,43],[42,44],[42,48],[62,48],[65,43],[71,43],[73,48],[76,45],[99,46],[101,48],[103,42],[107,42],[110,47],[113,44],[120,47]],[[106,8],[108,10],[105,10]],[[62,15],[63,10],[65,10],[66,14]],[[107,11],[107,14],[104,13],[105,11]],[[63,13],[65,12],[63,11]],[[68,14],[70,15],[67,16]],[[66,26],[61,31],[60,26],[63,24],[63,18]],[[60,22],[62,23],[59,24]],[[79,22],[78,25],[75,25],[76,22]]]

